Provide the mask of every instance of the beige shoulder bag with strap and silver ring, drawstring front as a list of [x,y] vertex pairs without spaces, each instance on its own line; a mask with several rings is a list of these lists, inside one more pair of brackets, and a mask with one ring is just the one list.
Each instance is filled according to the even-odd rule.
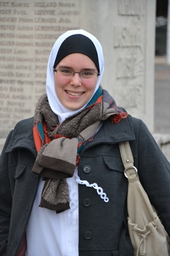
[[139,181],[130,145],[121,142],[119,148],[128,179],[127,225],[134,256],[169,256],[170,239]]

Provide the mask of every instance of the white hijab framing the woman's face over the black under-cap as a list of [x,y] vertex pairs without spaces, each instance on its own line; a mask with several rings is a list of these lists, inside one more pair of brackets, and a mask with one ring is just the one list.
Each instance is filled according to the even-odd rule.
[[[57,98],[57,95],[56,95],[56,92],[55,92],[53,65],[55,63],[57,53],[59,51],[61,43],[63,43],[63,41],[66,38],[70,37],[71,35],[75,35],[75,34],[81,34],[81,35],[85,35],[85,37],[88,37],[94,43],[94,46],[96,47],[96,50],[97,50],[100,75],[98,77],[98,81],[97,81],[96,89],[94,90],[94,93],[96,93],[96,91],[99,87],[99,84],[100,84],[101,79],[102,79],[103,70],[104,70],[104,59],[103,59],[102,46],[99,43],[99,41],[97,40],[97,38],[94,37],[94,35],[86,32],[85,30],[82,30],[82,29],[80,29],[80,30],[69,30],[66,33],[62,34],[57,39],[57,41],[55,42],[55,44],[52,47],[51,54],[49,55],[48,66],[47,66],[46,90],[47,90],[47,97],[48,97],[48,101],[49,101],[49,106],[51,107],[52,111],[55,114],[58,115],[60,123],[62,123],[65,120],[65,118],[67,118],[69,115],[76,114],[81,109],[84,109],[84,107],[88,104],[90,99],[92,99],[92,98],[90,98],[89,101],[86,103],[86,105],[83,106],[81,109],[78,109],[76,111],[72,111],[72,110],[65,109],[65,107],[59,101],[59,98]],[[93,97],[93,95],[92,95],[92,97]]]

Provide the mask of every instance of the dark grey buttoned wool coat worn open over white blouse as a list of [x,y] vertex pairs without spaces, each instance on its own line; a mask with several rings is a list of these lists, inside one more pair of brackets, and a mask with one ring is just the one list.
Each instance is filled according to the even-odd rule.
[[[36,158],[32,121],[29,118],[16,125],[1,154],[1,256],[16,255],[38,189],[39,177],[31,173]],[[127,231],[127,179],[118,146],[121,141],[130,141],[140,181],[170,235],[169,162],[139,119],[128,117],[118,124],[105,121],[81,151],[78,175],[101,186],[109,202],[105,203],[92,187],[79,185],[80,256],[132,256]]]

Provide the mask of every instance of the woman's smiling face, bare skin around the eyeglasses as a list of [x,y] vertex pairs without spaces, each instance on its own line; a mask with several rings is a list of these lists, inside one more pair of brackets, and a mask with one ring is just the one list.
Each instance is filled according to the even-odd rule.
[[[67,69],[75,72],[96,71],[97,67],[87,55],[72,53],[62,59],[55,69]],[[61,104],[68,110],[75,111],[85,106],[92,97],[97,84],[97,75],[93,81],[84,81],[80,74],[75,73],[72,78],[65,78],[54,72],[55,91]]]

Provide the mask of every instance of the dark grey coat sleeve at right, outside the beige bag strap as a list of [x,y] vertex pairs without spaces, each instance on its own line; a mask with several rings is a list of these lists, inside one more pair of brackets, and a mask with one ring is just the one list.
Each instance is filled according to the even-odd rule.
[[[170,237],[170,163],[142,121],[138,127],[138,174]],[[133,152],[136,155],[136,152]]]

